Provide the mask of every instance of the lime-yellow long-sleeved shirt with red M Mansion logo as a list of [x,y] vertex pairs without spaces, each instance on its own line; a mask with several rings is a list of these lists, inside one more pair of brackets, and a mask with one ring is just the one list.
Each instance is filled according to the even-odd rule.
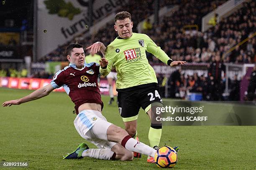
[[146,51],[167,64],[168,55],[146,34],[134,33],[128,39],[115,38],[105,50],[107,68],[100,73],[108,75],[112,67],[117,71],[116,89],[125,89],[152,82],[157,83],[156,73],[148,63]]

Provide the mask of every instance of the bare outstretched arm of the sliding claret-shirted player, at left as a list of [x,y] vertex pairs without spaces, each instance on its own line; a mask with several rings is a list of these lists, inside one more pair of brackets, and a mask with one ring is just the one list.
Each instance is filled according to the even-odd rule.
[[44,87],[41,87],[40,89],[37,89],[36,91],[33,91],[31,94],[22,97],[17,100],[9,100],[3,103],[3,107],[11,106],[11,105],[20,105],[24,102],[29,102],[31,100],[40,99],[41,97],[44,97],[46,95],[49,95],[50,92],[54,90],[54,87],[51,86],[51,84],[46,85]]

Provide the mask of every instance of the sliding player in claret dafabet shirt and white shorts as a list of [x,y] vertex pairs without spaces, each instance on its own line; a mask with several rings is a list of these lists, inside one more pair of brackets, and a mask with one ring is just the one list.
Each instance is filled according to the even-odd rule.
[[132,152],[154,156],[156,150],[133,139],[124,129],[108,122],[101,113],[103,103],[97,78],[100,66],[105,67],[108,61],[104,60],[100,65],[95,62],[85,63],[84,50],[79,44],[67,47],[67,59],[70,62],[69,66],[57,72],[49,85],[18,100],[6,101],[3,107],[39,99],[63,86],[75,104],[77,117],[74,126],[77,132],[82,138],[97,146],[97,149],[89,149],[82,143],[64,159],[90,157],[102,160],[133,160]]

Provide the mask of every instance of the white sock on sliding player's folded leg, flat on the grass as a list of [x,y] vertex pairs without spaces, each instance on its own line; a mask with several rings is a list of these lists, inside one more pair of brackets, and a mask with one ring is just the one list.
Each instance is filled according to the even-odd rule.
[[87,149],[82,153],[82,157],[90,157],[101,160],[110,160],[112,158],[114,152],[108,149]]

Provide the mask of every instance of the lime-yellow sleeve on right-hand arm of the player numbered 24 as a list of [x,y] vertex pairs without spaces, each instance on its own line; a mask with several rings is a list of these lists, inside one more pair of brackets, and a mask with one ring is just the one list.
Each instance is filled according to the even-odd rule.
[[168,60],[172,60],[170,57],[168,57],[168,55],[160,48],[156,45],[156,43],[151,40],[150,37],[148,37],[146,35],[146,42],[147,42],[147,52],[150,52],[151,54],[153,54],[154,56],[156,56],[156,58],[158,58],[159,60],[161,60],[162,62],[164,62],[165,64],[167,64]]

